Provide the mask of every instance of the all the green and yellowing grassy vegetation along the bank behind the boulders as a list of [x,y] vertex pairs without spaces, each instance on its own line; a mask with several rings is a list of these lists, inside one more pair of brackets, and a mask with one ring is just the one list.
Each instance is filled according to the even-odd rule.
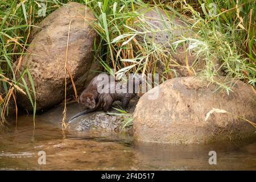
[[[26,54],[31,28],[42,21],[53,10],[71,1],[18,1],[0,2],[0,112],[1,123],[9,114],[8,107],[18,107],[15,93],[22,92],[30,98],[36,111],[36,91],[29,69],[19,72],[20,61]],[[94,46],[94,57],[104,66],[106,72],[118,76],[129,72],[155,73],[161,63],[164,70],[162,81],[176,76],[173,67],[183,67],[173,59],[176,47],[183,45],[187,52],[193,51],[197,58],[204,57],[205,69],[196,73],[197,59],[192,66],[185,67],[189,75],[202,75],[209,82],[216,82],[226,92],[232,91],[228,81],[218,82],[214,78],[220,74],[237,78],[255,88],[255,0],[225,1],[142,1],[142,0],[78,0],[92,9],[96,21],[92,27],[100,35],[100,42]],[[160,30],[142,16],[142,12],[157,6],[169,19],[159,14],[163,24],[171,23],[179,17],[188,24],[191,36],[172,39],[171,28]],[[169,14],[168,12],[172,12]],[[86,19],[85,19],[86,21]],[[166,32],[165,44],[157,44],[154,39],[145,40],[148,32]],[[215,60],[220,61],[216,67]],[[184,60],[186,61],[186,60]],[[30,83],[23,77],[27,75]],[[31,87],[27,85],[31,85]]]

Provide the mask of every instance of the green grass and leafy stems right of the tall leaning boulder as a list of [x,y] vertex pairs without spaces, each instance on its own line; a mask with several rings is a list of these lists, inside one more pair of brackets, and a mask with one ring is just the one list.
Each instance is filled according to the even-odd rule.
[[[164,66],[162,81],[174,77],[174,65],[180,67],[172,55],[179,44],[187,47],[187,52],[193,51],[197,58],[203,57],[205,69],[197,74],[202,75],[210,82],[216,82],[220,88],[227,93],[232,91],[229,81],[219,82],[216,77],[220,71],[224,72],[226,78],[236,78],[252,86],[256,85],[255,78],[255,1],[173,1],[164,3],[155,2],[148,5],[142,1],[104,1],[108,3],[109,9],[102,8],[96,2],[88,3],[92,7],[94,15],[98,19],[93,27],[104,40],[102,56],[98,60],[108,68],[114,68],[115,73],[122,76],[129,72],[155,73],[156,64]],[[216,14],[209,15],[210,3],[216,4]],[[104,4],[104,5],[105,5]],[[169,10],[177,16],[184,17],[184,22],[190,25],[191,37],[169,39],[164,45],[157,44],[154,39],[148,39],[147,33],[166,32],[172,38],[172,30],[166,28],[159,30],[145,19],[140,19],[141,13],[138,9],[158,6],[161,9]],[[158,12],[159,13],[159,12]],[[199,15],[200,13],[200,15]],[[168,15],[168,11],[166,11]],[[170,13],[169,13],[170,14]],[[160,13],[159,13],[160,15]],[[161,16],[160,16],[161,17]],[[159,19],[165,23],[172,23],[170,20]],[[139,31],[138,31],[139,27]],[[146,39],[146,42],[138,42],[138,37]],[[172,51],[166,51],[167,46],[172,45]],[[102,58],[104,57],[104,58]],[[185,61],[185,60],[184,60]],[[216,67],[216,61],[221,63]],[[192,67],[188,68],[193,70]]]

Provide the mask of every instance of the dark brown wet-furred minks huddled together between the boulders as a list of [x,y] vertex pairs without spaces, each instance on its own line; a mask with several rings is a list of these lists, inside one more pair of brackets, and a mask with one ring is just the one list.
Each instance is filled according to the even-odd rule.
[[[102,86],[102,84],[107,85],[106,88],[104,88],[105,93],[98,92],[98,87]],[[139,77],[137,82],[135,81],[135,84],[141,84],[141,77]],[[113,89],[115,89],[114,93],[111,92]],[[127,105],[130,100],[136,96],[134,90],[133,93],[129,93],[128,91],[127,84],[120,84],[120,82],[111,81],[110,76],[108,76],[108,79],[105,81],[102,81],[99,78],[99,75],[94,77],[80,96],[80,102],[84,106],[85,110],[71,117],[68,122],[70,123],[73,119],[96,111],[100,108],[107,113],[111,109],[114,101],[121,101],[122,108],[127,109]]]

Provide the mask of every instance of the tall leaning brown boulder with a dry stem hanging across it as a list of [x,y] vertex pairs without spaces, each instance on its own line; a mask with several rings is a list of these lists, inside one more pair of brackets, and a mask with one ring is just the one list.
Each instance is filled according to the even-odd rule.
[[[88,7],[71,2],[49,14],[38,25],[41,28],[33,28],[27,51],[31,54],[23,57],[20,69],[30,70],[35,83],[37,110],[56,105],[64,99],[65,54],[70,22],[67,63],[78,90],[83,87],[90,68],[97,67],[92,63],[93,41],[97,34],[82,18],[85,15],[89,21],[94,19]],[[28,77],[26,81],[29,84]],[[67,81],[68,92],[72,92],[68,73]],[[28,111],[32,110],[28,97],[23,94],[18,94],[18,104]]]

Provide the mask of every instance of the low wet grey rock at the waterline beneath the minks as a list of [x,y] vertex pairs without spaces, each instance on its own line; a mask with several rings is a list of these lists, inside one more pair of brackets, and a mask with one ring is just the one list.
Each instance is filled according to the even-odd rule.
[[[132,123],[123,128],[124,123],[127,119],[132,117],[132,114],[135,110],[136,104],[138,102],[138,98],[133,98],[130,101],[130,104],[127,108],[128,115],[115,115],[115,114],[105,114],[104,111],[98,110],[93,113],[88,113],[85,115],[81,115],[78,118],[75,118],[72,123],[69,123],[69,129],[75,131],[83,131],[83,130],[97,130],[104,132],[114,131],[128,131],[132,132],[133,126]],[[113,107],[119,108],[119,102],[115,102]],[[61,121],[63,119],[63,109],[64,105],[59,105],[51,110],[46,111],[43,114],[36,115],[36,119],[40,121],[47,121],[53,123],[57,127],[61,127]],[[73,115],[79,113],[83,110],[82,105],[77,103],[70,103],[67,105],[67,121]],[[109,113],[119,113],[117,110],[112,109]]]

